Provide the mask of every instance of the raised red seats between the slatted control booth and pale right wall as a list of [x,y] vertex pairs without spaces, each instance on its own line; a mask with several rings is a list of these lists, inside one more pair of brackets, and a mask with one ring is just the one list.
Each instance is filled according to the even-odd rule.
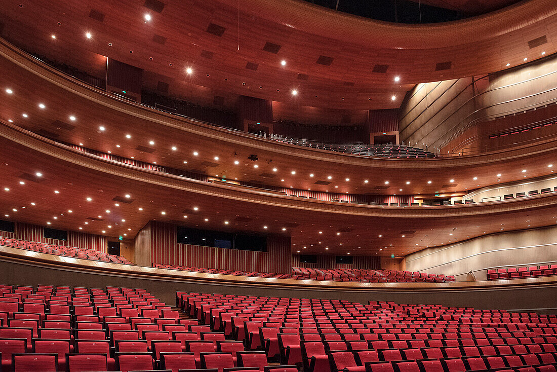
[[342,282],[455,282],[453,276],[397,270],[372,269],[314,269],[293,267],[292,273],[307,279]]

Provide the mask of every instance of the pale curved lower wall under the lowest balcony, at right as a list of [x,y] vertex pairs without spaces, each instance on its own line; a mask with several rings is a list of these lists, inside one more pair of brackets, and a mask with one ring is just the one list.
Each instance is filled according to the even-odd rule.
[[[557,214],[557,212],[556,212]],[[556,221],[551,221],[556,222]],[[487,269],[557,262],[557,226],[491,234],[421,250],[403,259],[411,271],[454,275],[457,281],[487,278]]]

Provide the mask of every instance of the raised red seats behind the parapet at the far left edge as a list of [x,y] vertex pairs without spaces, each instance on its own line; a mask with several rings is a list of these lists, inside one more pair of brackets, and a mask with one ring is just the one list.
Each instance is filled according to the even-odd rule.
[[4,238],[0,236],[0,245],[6,247],[19,248],[25,250],[32,250],[34,252],[56,254],[66,257],[73,257],[79,259],[88,259],[94,261],[111,262],[133,265],[129,260],[124,257],[116,256],[113,254],[108,254],[104,252],[99,252],[92,249],[75,248],[75,247],[65,247],[63,245],[56,244],[46,244],[37,243],[35,241],[27,241],[20,239]]

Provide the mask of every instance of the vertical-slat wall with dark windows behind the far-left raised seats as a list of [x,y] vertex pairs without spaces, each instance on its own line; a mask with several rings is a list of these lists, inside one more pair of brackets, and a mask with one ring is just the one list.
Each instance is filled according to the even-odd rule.
[[56,244],[63,245],[64,247],[76,247],[106,252],[108,244],[106,236],[68,231],[68,240],[48,239],[43,236],[42,226],[24,224],[20,222],[16,222],[15,225],[14,233],[0,231],[0,236],[4,236],[5,238],[36,241],[37,243]]

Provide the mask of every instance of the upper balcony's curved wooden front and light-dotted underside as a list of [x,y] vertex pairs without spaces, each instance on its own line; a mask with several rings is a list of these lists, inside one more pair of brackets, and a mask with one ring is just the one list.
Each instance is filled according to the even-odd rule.
[[[12,120],[14,125],[57,141],[82,143],[163,167],[301,190],[387,195],[451,195],[554,172],[548,165],[555,161],[555,142],[432,160],[340,154],[266,141],[141,107],[55,73],[8,45],[0,44],[0,55],[4,71],[0,75],[0,119],[4,122]],[[6,88],[13,93],[7,94]],[[41,103],[44,109],[38,106]],[[71,115],[75,121],[70,120]],[[126,138],[128,134],[130,138]],[[248,161],[250,154],[257,154],[260,160]],[[319,185],[318,181],[330,183]]]

